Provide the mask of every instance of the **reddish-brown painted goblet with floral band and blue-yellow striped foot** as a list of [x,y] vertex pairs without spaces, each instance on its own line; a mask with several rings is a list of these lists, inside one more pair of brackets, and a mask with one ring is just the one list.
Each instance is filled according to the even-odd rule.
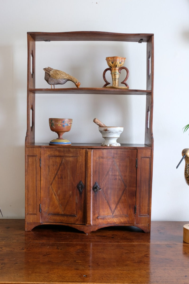
[[62,135],[71,129],[71,118],[49,118],[49,126],[51,131],[58,134],[58,138],[51,140],[49,145],[71,145],[69,140],[62,138]]

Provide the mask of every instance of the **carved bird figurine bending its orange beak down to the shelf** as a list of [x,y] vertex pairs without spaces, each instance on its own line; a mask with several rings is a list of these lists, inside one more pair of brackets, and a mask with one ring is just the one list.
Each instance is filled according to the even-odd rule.
[[72,81],[77,88],[80,86],[80,82],[76,78],[63,71],[52,69],[51,67],[43,68],[43,70],[45,72],[44,80],[51,85],[51,89],[52,85],[63,85],[67,81]]

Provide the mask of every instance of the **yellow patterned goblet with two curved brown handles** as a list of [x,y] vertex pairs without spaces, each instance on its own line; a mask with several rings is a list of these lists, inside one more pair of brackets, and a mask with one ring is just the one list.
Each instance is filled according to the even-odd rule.
[[[129,89],[128,84],[126,83],[126,80],[129,77],[129,70],[128,68],[122,66],[126,60],[126,57],[120,57],[120,56],[112,56],[112,57],[106,57],[107,64],[109,68],[106,68],[103,72],[103,79],[106,82],[105,85],[103,85],[103,88],[115,88],[115,89]],[[125,87],[119,87],[119,77],[121,70],[126,70],[126,78],[121,82],[125,85]],[[110,70],[111,76],[112,76],[112,86],[107,86],[110,83],[106,80],[105,73]]]

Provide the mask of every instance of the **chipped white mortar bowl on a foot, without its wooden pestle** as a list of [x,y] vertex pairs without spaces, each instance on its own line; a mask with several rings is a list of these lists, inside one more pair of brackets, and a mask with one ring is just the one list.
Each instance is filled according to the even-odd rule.
[[105,139],[105,142],[101,146],[121,146],[120,143],[117,143],[117,139],[120,137],[120,134],[123,132],[123,127],[119,126],[105,126],[99,127],[98,130],[102,134],[102,137]]

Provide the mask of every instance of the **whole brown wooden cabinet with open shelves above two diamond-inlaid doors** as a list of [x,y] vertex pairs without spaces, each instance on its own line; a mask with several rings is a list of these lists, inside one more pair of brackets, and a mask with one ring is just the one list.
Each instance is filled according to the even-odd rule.
[[[153,164],[153,34],[28,32],[25,229],[60,224],[90,233],[132,225],[150,232]],[[35,88],[35,41],[131,41],[146,43],[146,90]],[[35,143],[35,95],[88,93],[146,96],[144,144]]]

